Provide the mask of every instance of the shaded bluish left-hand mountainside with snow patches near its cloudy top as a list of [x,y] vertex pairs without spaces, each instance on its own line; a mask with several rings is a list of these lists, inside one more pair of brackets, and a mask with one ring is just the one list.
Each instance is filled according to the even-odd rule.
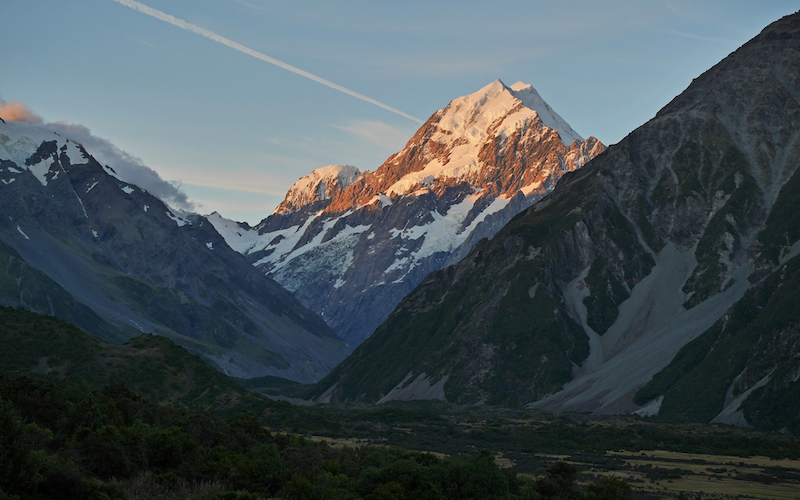
[[165,335],[239,377],[318,380],[349,352],[203,217],[172,210],[79,144],[0,122],[0,304],[123,342]]

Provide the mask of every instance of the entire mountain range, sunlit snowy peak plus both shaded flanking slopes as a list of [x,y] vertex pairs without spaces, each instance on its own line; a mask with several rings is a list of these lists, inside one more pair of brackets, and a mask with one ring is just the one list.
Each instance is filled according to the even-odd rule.
[[163,335],[319,402],[797,433],[799,165],[800,13],[608,148],[497,80],[376,170],[301,178],[254,227],[0,120],[0,305]]

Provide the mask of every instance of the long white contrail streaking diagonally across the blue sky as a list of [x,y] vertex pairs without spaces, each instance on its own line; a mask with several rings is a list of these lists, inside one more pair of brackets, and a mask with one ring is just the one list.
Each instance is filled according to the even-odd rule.
[[303,71],[300,68],[295,68],[294,66],[292,66],[290,64],[286,64],[285,62],[278,61],[277,59],[269,57],[266,54],[262,54],[261,52],[256,52],[255,50],[247,48],[244,45],[238,44],[238,43],[234,42],[233,40],[228,40],[227,38],[219,36],[216,33],[208,31],[207,29],[203,29],[200,26],[195,26],[194,24],[187,23],[186,21],[183,21],[183,20],[178,19],[176,17],[170,16],[169,14],[165,14],[164,12],[161,12],[160,10],[153,9],[153,8],[148,7],[148,6],[146,6],[144,4],[141,4],[139,2],[135,2],[134,0],[114,0],[114,1],[117,2],[117,3],[121,3],[122,5],[124,5],[126,7],[130,7],[131,9],[138,10],[139,12],[141,12],[143,14],[147,14],[148,16],[153,16],[156,19],[160,19],[160,20],[164,21],[165,23],[173,24],[173,25],[175,25],[175,26],[177,26],[179,28],[183,28],[183,29],[188,30],[188,31],[193,31],[193,32],[197,33],[198,35],[201,35],[201,36],[204,36],[204,37],[209,38],[211,40],[214,40],[215,42],[219,42],[222,45],[227,45],[228,47],[230,47],[232,49],[235,49],[235,50],[238,50],[239,52],[243,52],[243,53],[245,53],[247,55],[253,56],[256,59],[261,59],[262,61],[268,62],[270,64],[274,64],[275,66],[278,66],[280,68],[289,70],[292,73],[297,73],[298,75],[304,76],[304,77],[308,78],[309,80],[314,80],[317,83],[321,83],[321,84],[325,85],[326,87],[330,87],[332,89],[338,90],[339,92],[344,92],[345,94],[353,96],[356,99],[361,99],[362,101],[366,101],[366,102],[368,102],[370,104],[374,104],[376,106],[379,106],[379,107],[381,107],[381,108],[383,108],[385,110],[391,111],[392,113],[396,113],[396,114],[398,114],[398,115],[400,115],[400,116],[402,116],[404,118],[408,118],[409,120],[414,120],[417,123],[422,123],[422,120],[420,120],[419,118],[415,118],[415,117],[413,117],[413,116],[411,116],[409,114],[403,113],[399,109],[395,109],[395,108],[393,108],[391,106],[388,106],[388,105],[386,105],[386,104],[384,104],[384,103],[382,103],[380,101],[376,101],[375,99],[373,99],[371,97],[367,97],[365,95],[359,94],[358,92],[354,92],[354,91],[352,91],[350,89],[346,89],[346,88],[342,87],[341,85],[336,85],[335,83],[329,82],[328,80],[325,80],[324,78],[320,78],[317,75],[312,75],[308,71]]

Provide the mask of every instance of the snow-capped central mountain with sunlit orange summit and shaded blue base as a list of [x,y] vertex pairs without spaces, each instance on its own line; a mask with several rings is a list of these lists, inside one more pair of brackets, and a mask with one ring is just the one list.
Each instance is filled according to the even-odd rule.
[[358,345],[431,271],[460,260],[603,148],[530,85],[497,80],[434,113],[374,172],[316,170],[253,231],[211,221]]

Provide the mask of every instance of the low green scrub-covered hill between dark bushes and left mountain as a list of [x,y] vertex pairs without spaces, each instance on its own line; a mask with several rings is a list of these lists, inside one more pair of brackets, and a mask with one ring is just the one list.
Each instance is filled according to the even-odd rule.
[[222,416],[253,411],[278,427],[287,421],[317,429],[331,424],[247,391],[166,337],[145,334],[116,346],[65,321],[22,309],[0,307],[0,373],[82,380],[91,390],[124,381],[157,404]]

